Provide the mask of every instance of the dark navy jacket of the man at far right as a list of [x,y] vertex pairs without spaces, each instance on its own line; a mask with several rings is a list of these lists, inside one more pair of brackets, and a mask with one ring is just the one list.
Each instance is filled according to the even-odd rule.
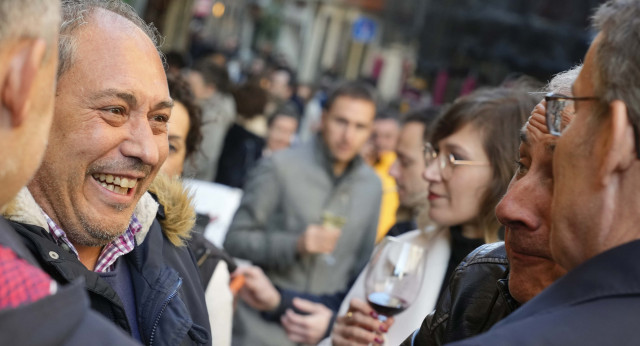
[[556,280],[488,332],[456,345],[639,345],[640,240]]

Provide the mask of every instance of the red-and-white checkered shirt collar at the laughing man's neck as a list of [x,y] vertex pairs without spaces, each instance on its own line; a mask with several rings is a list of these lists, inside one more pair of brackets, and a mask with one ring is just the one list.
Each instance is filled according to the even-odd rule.
[[[62,228],[60,228],[55,222],[53,222],[53,220],[51,220],[47,213],[42,211],[42,214],[44,215],[45,219],[47,219],[49,231],[51,232],[53,239],[55,239],[58,245],[62,245],[63,243],[66,244],[73,251],[73,253],[76,254],[77,257],[78,251],[73,246],[73,244],[71,244],[69,238],[67,238],[67,234],[62,230]],[[135,214],[131,215],[129,227],[127,227],[127,230],[124,232],[124,234],[102,248],[102,252],[98,257],[98,262],[96,263],[96,267],[93,271],[96,273],[106,273],[112,271],[118,257],[126,255],[129,252],[133,251],[136,246],[135,236],[141,230],[142,225],[136,218]]]

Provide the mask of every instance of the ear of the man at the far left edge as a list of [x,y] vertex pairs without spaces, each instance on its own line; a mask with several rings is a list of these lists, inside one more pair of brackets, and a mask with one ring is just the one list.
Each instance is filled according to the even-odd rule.
[[20,126],[29,114],[32,89],[46,50],[45,40],[30,39],[16,44],[9,54],[7,73],[0,80],[0,101],[9,111],[13,127]]

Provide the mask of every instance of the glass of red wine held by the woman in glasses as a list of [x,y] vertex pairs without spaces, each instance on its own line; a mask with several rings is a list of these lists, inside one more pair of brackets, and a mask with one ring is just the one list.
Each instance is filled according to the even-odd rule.
[[381,321],[397,315],[420,292],[425,270],[425,249],[385,237],[371,258],[365,277],[365,293]]

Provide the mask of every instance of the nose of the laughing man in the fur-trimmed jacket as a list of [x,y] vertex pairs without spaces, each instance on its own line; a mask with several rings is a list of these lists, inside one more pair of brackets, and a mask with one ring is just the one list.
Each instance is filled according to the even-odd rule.
[[127,122],[127,128],[127,138],[120,146],[122,154],[138,158],[144,164],[156,166],[160,152],[147,118],[131,117]]

